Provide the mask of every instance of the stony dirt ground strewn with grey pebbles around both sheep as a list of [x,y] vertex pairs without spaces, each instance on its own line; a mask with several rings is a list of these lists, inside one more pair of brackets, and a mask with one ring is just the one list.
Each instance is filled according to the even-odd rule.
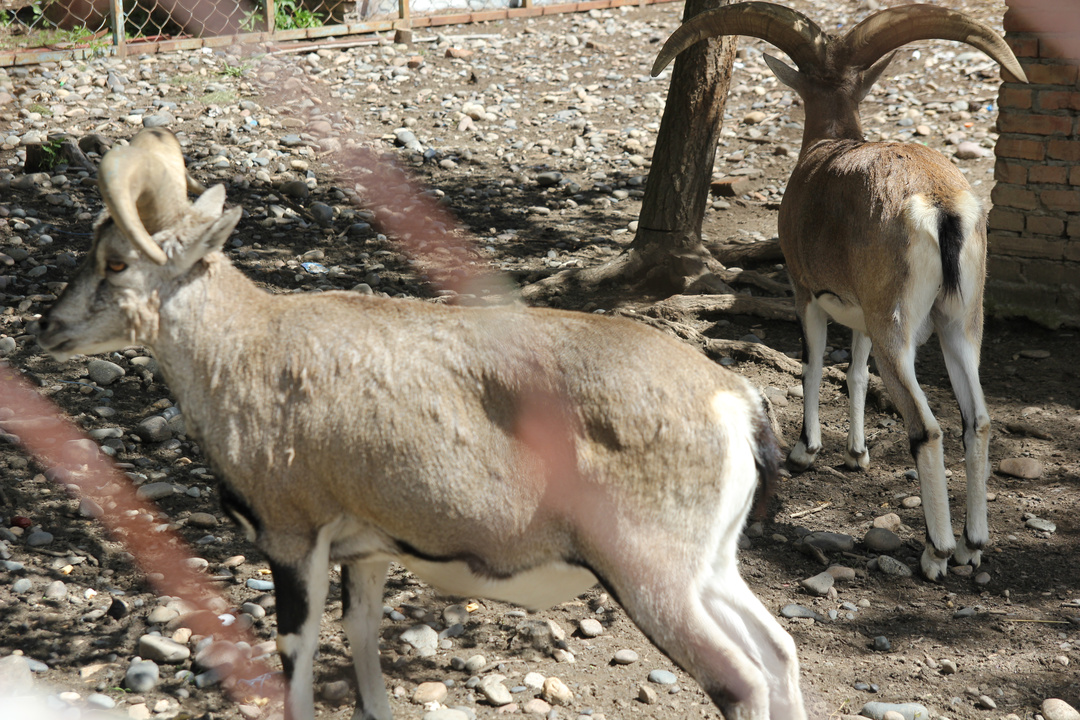
[[[792,4],[827,28],[850,26],[867,12],[853,2]],[[996,26],[1003,13],[1000,1],[939,4]],[[59,364],[35,342],[32,322],[89,247],[100,203],[93,179],[73,161],[24,172],[25,147],[67,133],[82,138],[95,161],[95,142],[164,124],[180,133],[193,174],[205,185],[225,182],[229,201],[245,208],[230,255],[269,290],[334,287],[454,301],[456,293],[433,279],[494,269],[525,285],[622,252],[636,227],[669,79],[649,78],[648,68],[679,12],[671,4],[447,28],[440,36],[418,32],[410,46],[327,41],[299,52],[193,52],[0,69],[0,354],[156,499],[157,514],[139,521],[148,530],[174,528],[191,544],[194,567],[225,597],[222,611],[251,626],[260,643],[254,654],[272,648],[275,627],[272,599],[260,584],[268,580],[266,563],[220,513],[216,480],[184,434],[152,358],[133,348]],[[801,134],[801,109],[766,68],[762,44],[741,47],[715,169],[717,178],[743,184],[737,196],[716,198],[706,213],[705,236],[717,246],[774,236]],[[915,139],[956,158],[988,202],[998,82],[991,63],[970,49],[917,43],[899,54],[864,104],[867,135]],[[429,248],[418,260],[379,234],[364,204],[369,176],[345,162],[354,148],[374,148],[413,173],[456,217],[454,232],[469,249]],[[785,282],[782,266],[755,270]],[[752,286],[747,275],[739,288],[762,294],[760,284]],[[672,308],[658,313],[654,300],[613,288],[566,293],[553,304],[632,314],[680,326],[691,338],[745,339],[789,355],[798,350],[792,322]],[[827,364],[843,370],[848,338],[834,328],[829,340]],[[743,572],[795,637],[815,718],[886,702],[922,705],[928,717],[1041,712],[1056,720],[1071,716],[1055,715],[1043,701],[1080,704],[1071,668],[1078,660],[1072,617],[1080,615],[1072,560],[1080,526],[1071,512],[1080,472],[1077,340],[1067,331],[990,321],[984,344],[983,384],[995,423],[994,544],[980,571],[941,585],[906,576],[917,567],[923,520],[903,423],[888,409],[869,408],[872,468],[862,475],[834,470],[846,432],[838,375],[823,388],[826,445],[816,468],[785,478],[773,520],[747,530]],[[793,441],[800,404],[789,365],[742,355],[718,359],[770,396],[783,436]],[[922,353],[918,371],[946,429],[958,516],[960,419],[936,348]],[[0,408],[0,419],[11,415]],[[231,699],[213,678],[195,682],[202,644],[179,627],[183,604],[153,592],[121,538],[93,519],[93,507],[80,505],[49,468],[10,443],[0,444],[0,687],[18,681],[26,664],[12,656],[21,654],[31,661],[33,682],[52,693],[44,706],[65,718],[112,706],[122,717],[163,720],[266,714],[251,697]],[[872,528],[879,530],[867,535]],[[810,532],[840,535],[807,538]],[[845,570],[825,580],[818,575],[826,565]],[[351,670],[333,622],[340,611],[337,588],[335,576],[316,669],[319,709],[321,717],[348,718]],[[395,570],[386,603],[383,670],[397,718],[424,717],[435,709],[430,703],[459,708],[464,716],[443,716],[458,720],[505,712],[718,716],[598,589],[548,612],[524,613],[441,597]],[[403,638],[423,623],[440,633]],[[171,646],[141,640],[153,631],[178,640],[192,657],[170,657]],[[428,650],[409,643],[432,635]],[[137,657],[153,658],[157,680]],[[554,699],[566,702],[565,694],[544,695],[543,680],[552,677],[572,693],[568,705]],[[491,683],[510,691],[510,704],[497,709],[487,699]]]

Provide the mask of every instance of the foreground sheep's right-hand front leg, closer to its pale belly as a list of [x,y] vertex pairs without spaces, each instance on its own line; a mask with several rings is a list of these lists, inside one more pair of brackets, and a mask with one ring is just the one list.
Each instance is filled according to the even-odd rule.
[[356,711],[352,720],[391,720],[379,664],[379,621],[387,562],[341,566],[341,625],[356,670]]

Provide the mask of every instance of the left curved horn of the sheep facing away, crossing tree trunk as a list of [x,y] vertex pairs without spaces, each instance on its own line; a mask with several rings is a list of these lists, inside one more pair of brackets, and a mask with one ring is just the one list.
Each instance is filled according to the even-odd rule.
[[660,49],[652,65],[658,76],[690,45],[724,35],[745,35],[772,43],[805,70],[825,57],[826,35],[800,12],[771,2],[740,2],[694,15],[683,23]]

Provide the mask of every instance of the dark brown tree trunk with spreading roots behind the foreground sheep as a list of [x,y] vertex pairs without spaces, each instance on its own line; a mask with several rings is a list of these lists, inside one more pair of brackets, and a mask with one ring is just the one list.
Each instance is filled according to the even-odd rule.
[[[686,0],[684,21],[730,0]],[[596,268],[566,270],[522,289],[546,301],[567,289],[632,283],[664,296],[691,285],[731,293],[723,266],[701,242],[701,223],[724,119],[735,40],[711,39],[675,59],[652,152],[637,235],[625,253]]]

